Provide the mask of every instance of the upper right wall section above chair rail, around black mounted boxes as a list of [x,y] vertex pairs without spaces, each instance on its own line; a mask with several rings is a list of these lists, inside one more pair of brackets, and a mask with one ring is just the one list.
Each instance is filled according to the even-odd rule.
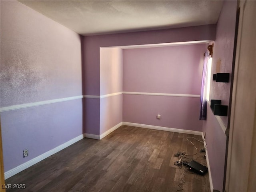
[[[229,83],[212,81],[210,99],[220,99],[222,105],[229,105],[230,80],[236,25],[236,1],[224,1],[216,28],[216,40],[213,47],[212,74],[230,73]],[[228,117],[221,116],[225,126]]]

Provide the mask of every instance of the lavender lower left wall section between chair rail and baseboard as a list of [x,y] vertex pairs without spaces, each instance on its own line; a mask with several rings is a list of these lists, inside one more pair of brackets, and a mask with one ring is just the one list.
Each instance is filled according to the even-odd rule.
[[1,124],[6,172],[81,135],[82,100],[1,112]]

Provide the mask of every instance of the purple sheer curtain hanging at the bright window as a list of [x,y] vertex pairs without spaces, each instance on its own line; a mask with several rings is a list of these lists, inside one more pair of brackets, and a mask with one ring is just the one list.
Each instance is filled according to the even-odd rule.
[[199,120],[206,120],[207,113],[207,102],[206,102],[206,76],[208,68],[208,60],[210,58],[210,52],[207,50],[204,54],[204,67],[202,74],[202,83],[201,83],[201,95],[200,95],[200,117]]

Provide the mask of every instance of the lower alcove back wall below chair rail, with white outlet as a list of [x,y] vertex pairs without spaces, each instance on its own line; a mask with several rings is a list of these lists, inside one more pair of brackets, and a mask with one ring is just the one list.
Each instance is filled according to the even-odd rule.
[[200,98],[123,95],[124,122],[202,131],[199,112]]

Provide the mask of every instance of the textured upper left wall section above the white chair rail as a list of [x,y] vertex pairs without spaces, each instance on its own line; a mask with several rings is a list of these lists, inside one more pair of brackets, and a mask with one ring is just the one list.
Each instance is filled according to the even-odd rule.
[[82,94],[80,36],[15,1],[1,1],[1,106]]

